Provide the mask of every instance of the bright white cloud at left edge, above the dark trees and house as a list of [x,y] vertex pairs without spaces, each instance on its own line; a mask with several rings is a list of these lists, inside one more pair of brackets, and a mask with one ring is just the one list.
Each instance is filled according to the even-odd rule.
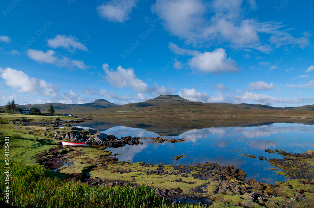
[[1,77],[7,86],[17,88],[19,92],[43,94],[46,96],[57,96],[59,92],[57,86],[47,83],[45,80],[29,77],[23,71],[0,68]]

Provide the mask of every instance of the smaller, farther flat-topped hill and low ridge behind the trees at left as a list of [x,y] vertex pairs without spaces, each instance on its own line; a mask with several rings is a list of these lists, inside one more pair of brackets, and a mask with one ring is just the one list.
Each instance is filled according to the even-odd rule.
[[[66,104],[66,103],[45,103],[45,104],[28,104],[28,105],[19,105],[16,107],[20,108],[40,108],[41,112],[45,113],[48,110],[48,107],[52,104],[56,113],[78,113],[78,112],[87,112],[87,111],[95,111],[100,109],[106,109],[111,107],[120,107],[121,105],[117,105],[106,101],[104,99],[98,99],[91,103],[84,104]],[[0,106],[1,110],[4,110],[4,106]]]

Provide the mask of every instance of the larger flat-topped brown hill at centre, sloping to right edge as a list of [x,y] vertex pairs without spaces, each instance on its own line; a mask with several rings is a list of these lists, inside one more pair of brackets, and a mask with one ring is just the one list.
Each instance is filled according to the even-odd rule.
[[[184,99],[177,95],[161,95],[151,100],[130,103],[88,112],[90,115],[106,117],[306,117],[313,118],[312,106],[272,107],[261,104],[202,103]],[[81,115],[86,115],[82,113]]]

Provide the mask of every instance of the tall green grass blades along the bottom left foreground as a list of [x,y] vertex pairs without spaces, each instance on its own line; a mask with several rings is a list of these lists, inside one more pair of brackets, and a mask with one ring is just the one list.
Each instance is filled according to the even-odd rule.
[[[10,162],[10,205],[16,207],[203,207],[201,205],[171,204],[157,197],[149,186],[97,187],[73,179],[50,177],[40,165]],[[0,159],[4,170],[4,159]],[[0,177],[5,178],[4,171]],[[4,180],[0,182],[5,190]],[[0,194],[2,202],[4,193]]]

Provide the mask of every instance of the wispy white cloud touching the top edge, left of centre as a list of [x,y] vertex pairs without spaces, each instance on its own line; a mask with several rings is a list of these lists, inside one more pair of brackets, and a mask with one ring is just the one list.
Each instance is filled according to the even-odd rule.
[[132,12],[133,7],[136,7],[137,2],[138,0],[110,0],[98,6],[96,9],[100,17],[110,22],[122,23],[130,19],[129,14]]

